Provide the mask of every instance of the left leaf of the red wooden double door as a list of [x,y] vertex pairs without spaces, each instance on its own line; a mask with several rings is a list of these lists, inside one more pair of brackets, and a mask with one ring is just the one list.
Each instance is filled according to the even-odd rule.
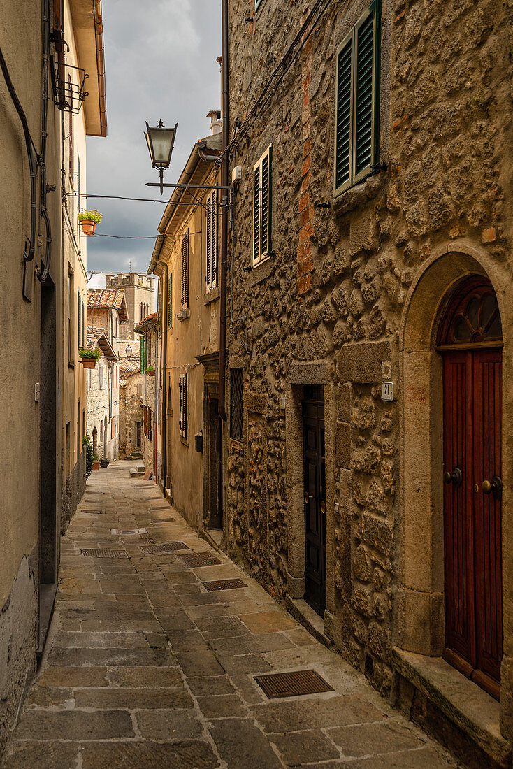
[[444,356],[444,471],[459,468],[461,486],[445,484],[445,636],[446,644],[475,664],[473,524],[471,516],[471,357]]

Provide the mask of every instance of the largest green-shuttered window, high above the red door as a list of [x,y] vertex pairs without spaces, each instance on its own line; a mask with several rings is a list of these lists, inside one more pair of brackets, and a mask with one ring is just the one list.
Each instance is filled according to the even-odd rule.
[[378,143],[378,18],[375,2],[338,47],[334,194],[368,176]]

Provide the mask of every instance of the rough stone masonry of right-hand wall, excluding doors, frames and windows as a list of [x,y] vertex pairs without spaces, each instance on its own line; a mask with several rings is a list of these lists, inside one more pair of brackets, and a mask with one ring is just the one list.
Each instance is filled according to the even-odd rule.
[[[228,354],[244,361],[246,385],[266,411],[257,420],[246,408],[253,424],[243,457],[228,446],[227,548],[285,594],[289,501],[278,399],[292,362],[326,361],[338,391],[327,630],[386,693],[400,568],[398,402],[383,403],[379,383],[388,365],[398,381],[405,297],[435,248],[475,244],[507,279],[511,2],[383,2],[379,159],[387,170],[333,198],[335,51],[367,5],[328,6],[311,48],[291,62],[232,153],[242,183]],[[243,122],[301,24],[295,2],[267,0],[248,28],[245,12],[239,0],[230,3],[232,122]],[[271,143],[273,251],[251,270],[252,168]],[[228,286],[231,271],[228,263]],[[256,568],[267,548],[268,564]]]

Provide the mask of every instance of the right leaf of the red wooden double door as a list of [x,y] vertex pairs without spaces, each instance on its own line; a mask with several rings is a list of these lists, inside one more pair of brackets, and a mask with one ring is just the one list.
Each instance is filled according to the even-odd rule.
[[501,499],[482,482],[501,478],[501,350],[474,353],[474,494],[477,667],[500,681],[502,658]]

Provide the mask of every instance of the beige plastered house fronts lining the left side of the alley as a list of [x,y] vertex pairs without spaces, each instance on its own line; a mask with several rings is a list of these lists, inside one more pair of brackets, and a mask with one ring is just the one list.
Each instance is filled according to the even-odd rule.
[[[78,329],[87,249],[85,238],[78,245],[75,195],[78,158],[85,192],[85,135],[107,130],[102,3],[6,0],[0,48],[0,322],[8,339],[0,371],[0,428],[8,436],[0,446],[1,755],[43,651],[60,534],[83,489]],[[62,88],[49,56],[65,73]],[[68,74],[79,86],[69,65],[88,75],[76,114],[64,98]]]

